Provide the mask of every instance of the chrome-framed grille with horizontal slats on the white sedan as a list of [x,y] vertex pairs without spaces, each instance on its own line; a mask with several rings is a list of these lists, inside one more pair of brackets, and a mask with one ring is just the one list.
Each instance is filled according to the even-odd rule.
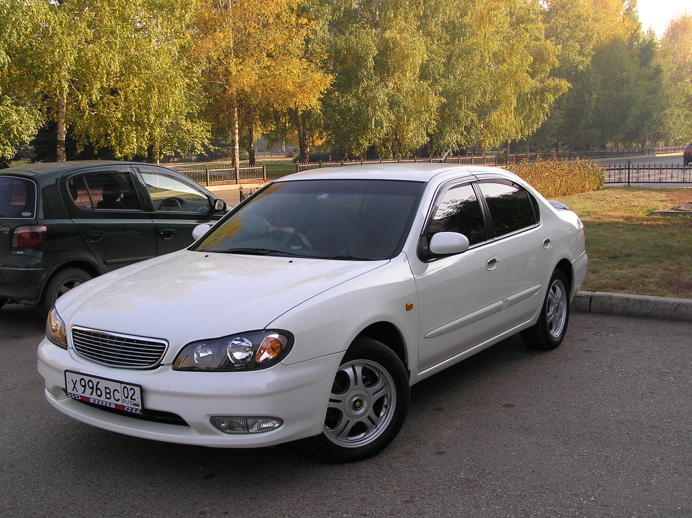
[[124,368],[152,368],[161,361],[168,343],[104,331],[72,328],[72,345],[85,358]]

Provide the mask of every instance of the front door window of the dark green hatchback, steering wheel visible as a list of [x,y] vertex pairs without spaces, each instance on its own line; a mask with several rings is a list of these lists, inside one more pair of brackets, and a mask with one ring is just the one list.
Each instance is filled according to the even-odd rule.
[[211,210],[209,199],[188,184],[155,172],[141,173],[152,198],[154,211],[203,213]]

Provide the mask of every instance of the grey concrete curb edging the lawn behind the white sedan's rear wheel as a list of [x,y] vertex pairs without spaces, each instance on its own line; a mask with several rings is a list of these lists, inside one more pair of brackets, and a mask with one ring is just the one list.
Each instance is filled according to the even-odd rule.
[[577,292],[570,304],[577,313],[639,316],[692,322],[692,298],[653,297],[610,292]]

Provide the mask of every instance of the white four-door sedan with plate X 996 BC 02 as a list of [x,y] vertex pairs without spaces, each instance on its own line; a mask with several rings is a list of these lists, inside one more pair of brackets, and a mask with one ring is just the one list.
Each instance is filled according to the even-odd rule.
[[173,443],[366,458],[412,384],[517,332],[558,346],[588,262],[576,214],[482,166],[302,172],[196,230],[55,303],[53,407]]

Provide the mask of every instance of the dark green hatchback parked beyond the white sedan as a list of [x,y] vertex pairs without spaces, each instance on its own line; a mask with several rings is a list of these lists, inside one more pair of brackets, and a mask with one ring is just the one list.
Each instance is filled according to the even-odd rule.
[[75,161],[0,170],[0,306],[38,306],[95,276],[192,243],[226,203],[172,169]]

